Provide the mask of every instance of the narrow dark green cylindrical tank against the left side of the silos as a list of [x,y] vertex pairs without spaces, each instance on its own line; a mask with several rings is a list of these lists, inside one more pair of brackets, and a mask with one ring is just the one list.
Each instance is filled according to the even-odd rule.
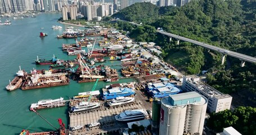
[[161,102],[160,100],[154,100],[152,104],[152,131],[159,134],[159,123],[160,123],[160,109],[161,109]]

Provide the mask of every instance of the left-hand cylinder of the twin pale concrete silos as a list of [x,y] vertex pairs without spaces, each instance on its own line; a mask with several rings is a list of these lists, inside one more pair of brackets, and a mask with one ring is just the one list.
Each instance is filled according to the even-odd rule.
[[182,135],[186,118],[186,105],[172,106],[168,98],[161,100],[159,134]]

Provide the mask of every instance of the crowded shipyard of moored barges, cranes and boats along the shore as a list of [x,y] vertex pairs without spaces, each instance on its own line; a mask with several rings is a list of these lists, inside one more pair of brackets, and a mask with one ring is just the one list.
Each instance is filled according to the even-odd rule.
[[[70,81],[95,83],[92,88],[87,88],[89,91],[70,95],[66,99],[60,97],[34,101],[30,111],[47,123],[47,119],[40,114],[41,109],[68,106],[69,123],[65,127],[59,120],[60,128],[54,127],[56,131],[23,133],[122,134],[128,130],[126,122],[150,122],[154,98],[182,92],[177,88],[180,86],[176,87],[177,83],[171,83],[169,79],[173,74],[178,75],[177,70],[148,50],[148,47],[154,47],[154,43],[136,43],[116,29],[98,28],[73,30],[69,27],[57,38],[72,38],[73,43],[63,43],[60,47],[64,53],[75,55],[75,59],[61,60],[53,55],[52,59],[47,60],[37,56],[35,65],[44,66],[45,69],[33,69],[27,73],[20,67],[14,80],[10,80],[6,87],[8,91],[66,86]],[[60,26],[53,26],[52,29],[61,30]],[[116,64],[107,64],[111,61]],[[134,78],[134,82],[118,83],[126,78]],[[111,84],[96,90],[100,81]],[[152,131],[146,129],[143,133],[152,134]]]

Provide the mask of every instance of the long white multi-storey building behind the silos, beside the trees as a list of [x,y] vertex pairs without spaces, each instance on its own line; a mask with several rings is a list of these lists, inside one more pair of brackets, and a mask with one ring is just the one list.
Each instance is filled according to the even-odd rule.
[[210,113],[230,109],[232,97],[200,81],[198,77],[183,77],[182,89],[187,92],[196,91],[208,100],[207,109]]

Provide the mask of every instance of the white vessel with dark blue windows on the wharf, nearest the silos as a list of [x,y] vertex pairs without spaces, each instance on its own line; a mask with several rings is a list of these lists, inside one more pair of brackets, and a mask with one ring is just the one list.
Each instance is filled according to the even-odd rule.
[[125,122],[130,120],[144,119],[147,116],[149,116],[149,114],[147,114],[145,109],[125,110],[123,113],[115,115],[115,119]]

